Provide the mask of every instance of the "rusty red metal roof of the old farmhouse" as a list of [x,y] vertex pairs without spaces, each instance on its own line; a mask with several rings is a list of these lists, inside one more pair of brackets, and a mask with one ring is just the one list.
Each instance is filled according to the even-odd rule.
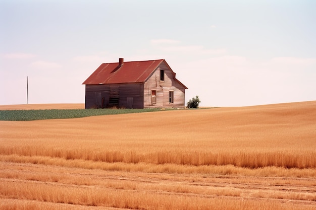
[[[165,59],[128,61],[123,62],[122,66],[119,66],[119,62],[102,63],[94,73],[84,81],[83,85],[145,82],[163,61],[165,61]],[[168,65],[167,62],[166,64]],[[175,79],[175,73],[173,75]],[[178,82],[183,85],[180,81]]]

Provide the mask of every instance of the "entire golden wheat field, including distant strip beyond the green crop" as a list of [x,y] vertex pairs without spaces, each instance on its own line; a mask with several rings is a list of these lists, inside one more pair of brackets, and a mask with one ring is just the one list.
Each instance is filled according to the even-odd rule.
[[0,143],[0,209],[316,209],[316,101],[0,121]]

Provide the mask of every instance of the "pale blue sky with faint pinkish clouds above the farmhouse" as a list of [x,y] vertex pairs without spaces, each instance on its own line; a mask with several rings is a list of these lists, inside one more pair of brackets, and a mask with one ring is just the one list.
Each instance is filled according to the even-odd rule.
[[0,0],[0,104],[84,103],[104,62],[166,59],[201,106],[316,100],[316,1]]

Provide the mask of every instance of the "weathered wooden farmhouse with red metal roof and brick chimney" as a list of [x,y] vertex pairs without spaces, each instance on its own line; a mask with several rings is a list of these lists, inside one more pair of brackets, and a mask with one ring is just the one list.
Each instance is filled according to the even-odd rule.
[[84,81],[85,108],[184,108],[187,87],[165,59],[102,63]]

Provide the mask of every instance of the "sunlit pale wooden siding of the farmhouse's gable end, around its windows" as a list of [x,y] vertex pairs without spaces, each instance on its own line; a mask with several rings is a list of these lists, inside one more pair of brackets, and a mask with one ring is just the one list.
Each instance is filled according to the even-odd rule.
[[[160,81],[160,71],[164,70],[165,80]],[[156,103],[151,103],[151,91],[156,91]],[[174,92],[174,102],[169,103],[169,92]],[[185,88],[173,79],[171,69],[162,62],[144,84],[144,108],[166,107],[184,108]]]

